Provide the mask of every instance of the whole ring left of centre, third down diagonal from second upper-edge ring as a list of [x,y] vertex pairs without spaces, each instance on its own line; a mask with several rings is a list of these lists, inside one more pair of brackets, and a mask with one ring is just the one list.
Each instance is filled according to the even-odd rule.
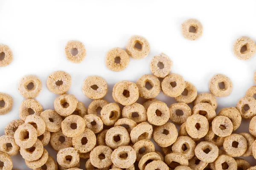
[[86,122],[78,115],[67,116],[61,122],[62,133],[67,137],[76,137],[84,132]]

